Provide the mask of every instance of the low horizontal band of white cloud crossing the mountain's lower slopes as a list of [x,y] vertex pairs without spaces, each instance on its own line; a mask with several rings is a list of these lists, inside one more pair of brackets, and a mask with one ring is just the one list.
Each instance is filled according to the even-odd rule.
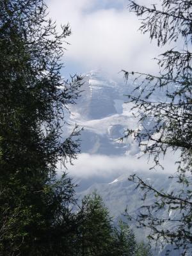
[[[161,159],[164,170],[158,168],[150,172],[166,172],[174,173],[176,171],[175,161],[178,159],[178,154],[168,152],[164,159]],[[67,172],[73,177],[88,179],[90,177],[111,177],[122,175],[123,173],[149,172],[152,167],[152,161],[148,162],[147,156],[138,159],[137,156],[104,156],[98,154],[79,154],[74,165],[68,164]],[[63,172],[61,166],[58,166],[58,172]]]

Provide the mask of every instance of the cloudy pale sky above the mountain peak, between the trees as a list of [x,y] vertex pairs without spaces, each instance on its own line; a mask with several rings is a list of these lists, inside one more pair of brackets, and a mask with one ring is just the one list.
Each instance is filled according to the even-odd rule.
[[[154,3],[152,0],[140,3]],[[65,45],[64,76],[99,69],[111,77],[120,70],[152,72],[152,60],[161,49],[141,35],[140,20],[127,9],[127,0],[47,0],[49,15],[60,24],[70,24],[72,35]]]

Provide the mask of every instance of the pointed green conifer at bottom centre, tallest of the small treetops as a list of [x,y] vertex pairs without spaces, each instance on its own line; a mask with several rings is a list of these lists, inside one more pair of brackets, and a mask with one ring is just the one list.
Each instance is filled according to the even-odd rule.
[[79,243],[80,254],[77,255],[108,255],[113,226],[102,198],[95,192],[84,196],[79,215],[82,216],[82,223],[78,230],[77,243]]

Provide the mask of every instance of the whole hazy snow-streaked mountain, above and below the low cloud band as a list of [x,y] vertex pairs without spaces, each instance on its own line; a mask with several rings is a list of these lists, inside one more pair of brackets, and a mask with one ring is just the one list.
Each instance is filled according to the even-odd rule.
[[[82,198],[96,189],[115,221],[122,217],[125,208],[129,214],[135,215],[143,205],[141,191],[136,190],[135,184],[127,179],[130,174],[137,173],[157,189],[168,191],[175,186],[173,180],[168,179],[169,174],[150,172],[147,161],[137,164],[140,148],[132,138],[123,142],[118,140],[124,135],[127,127],[138,128],[138,121],[132,115],[132,105],[124,103],[126,101],[124,95],[130,93],[133,88],[134,84],[126,84],[124,79],[112,81],[100,72],[92,71],[84,76],[83,93],[77,100],[77,104],[70,108],[70,116],[67,120],[72,127],[77,124],[84,128],[81,134],[81,153],[90,157],[91,161],[96,159],[95,161],[101,162],[100,164],[89,163],[90,170],[85,176],[81,175],[82,166],[74,162],[73,168],[77,168],[77,172],[79,169],[78,175],[74,175],[74,180],[79,184],[77,196]],[[154,97],[157,99],[159,94]],[[145,126],[150,127],[151,122],[152,120],[148,118]],[[97,157],[94,158],[94,156]],[[106,172],[108,161],[104,161],[104,157],[110,159],[111,168],[114,169],[113,172],[108,170],[106,175],[104,172]],[[126,157],[127,165],[121,164]],[[83,163],[84,168],[87,168],[86,161]],[[70,173],[70,167],[68,172]],[[145,204],[152,204],[153,200],[151,196]],[[168,214],[171,216],[173,213],[161,212],[161,214],[167,217]],[[143,236],[140,230],[136,231],[136,223],[132,222],[131,225],[139,239],[147,236],[147,230],[142,230],[145,232]],[[164,255],[164,251],[159,250],[158,253],[156,255]],[[175,253],[173,255],[176,256],[177,253]]]

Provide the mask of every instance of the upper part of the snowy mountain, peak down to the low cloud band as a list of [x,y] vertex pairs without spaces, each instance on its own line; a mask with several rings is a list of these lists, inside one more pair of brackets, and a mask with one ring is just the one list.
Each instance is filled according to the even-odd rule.
[[[84,77],[82,96],[70,109],[70,123],[84,127],[81,134],[81,152],[89,154],[120,155],[129,150],[138,151],[129,143],[120,143],[127,125],[136,127],[130,104],[124,104],[127,84],[110,81],[92,71]],[[132,152],[132,150],[134,152]]]

